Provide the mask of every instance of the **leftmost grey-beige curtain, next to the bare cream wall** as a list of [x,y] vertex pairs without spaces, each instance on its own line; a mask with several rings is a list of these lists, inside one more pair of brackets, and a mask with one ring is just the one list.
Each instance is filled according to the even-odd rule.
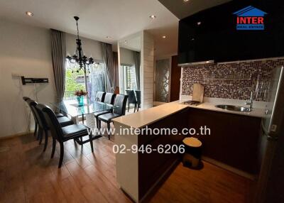
[[62,101],[65,92],[65,33],[51,29],[51,51],[53,60],[53,74],[57,100]]

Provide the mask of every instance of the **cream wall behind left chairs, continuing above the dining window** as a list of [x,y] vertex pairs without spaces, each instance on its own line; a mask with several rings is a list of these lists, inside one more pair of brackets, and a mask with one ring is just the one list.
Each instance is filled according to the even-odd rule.
[[[75,35],[66,35],[67,51],[74,54]],[[26,133],[29,109],[22,97],[35,99],[35,85],[21,84],[25,77],[48,77],[48,84],[38,84],[38,102],[55,101],[50,30],[0,20],[0,138]],[[102,60],[102,47],[96,40],[82,38],[83,51]],[[33,123],[33,118],[31,118]],[[33,124],[32,124],[33,129]]]

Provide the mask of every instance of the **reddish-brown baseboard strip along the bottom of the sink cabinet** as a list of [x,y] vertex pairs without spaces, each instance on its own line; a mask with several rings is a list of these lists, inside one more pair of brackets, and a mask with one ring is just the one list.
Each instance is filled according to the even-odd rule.
[[231,167],[229,165],[226,165],[224,163],[221,163],[217,160],[214,160],[212,158],[208,158],[206,156],[202,156],[202,160],[212,163],[213,165],[217,165],[219,168],[223,168],[224,170],[229,170],[230,172],[234,172],[236,175],[240,175],[242,177],[246,177],[250,180],[257,180],[257,175],[250,174],[249,172],[244,172],[243,170],[239,170],[237,168]]

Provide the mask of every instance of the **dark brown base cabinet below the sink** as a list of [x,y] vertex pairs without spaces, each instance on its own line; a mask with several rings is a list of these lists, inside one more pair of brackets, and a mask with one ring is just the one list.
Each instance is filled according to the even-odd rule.
[[261,118],[190,108],[188,124],[196,130],[200,126],[210,129],[209,135],[194,136],[202,141],[202,155],[252,175],[258,174]]

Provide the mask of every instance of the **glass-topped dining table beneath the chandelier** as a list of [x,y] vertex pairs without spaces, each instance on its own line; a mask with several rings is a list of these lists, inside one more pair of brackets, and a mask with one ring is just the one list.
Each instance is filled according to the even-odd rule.
[[[84,99],[84,104],[79,105],[77,100],[63,100],[61,102],[51,102],[52,106],[58,109],[62,114],[70,116],[76,123],[79,123],[80,117],[82,118],[82,123],[84,124],[84,119],[86,119],[86,126],[89,128],[95,128],[94,113],[99,111],[111,111],[119,106],[114,106],[100,101],[91,101],[90,99]],[[93,140],[102,137],[101,135],[93,135]],[[89,142],[89,140],[76,140],[80,145]]]

